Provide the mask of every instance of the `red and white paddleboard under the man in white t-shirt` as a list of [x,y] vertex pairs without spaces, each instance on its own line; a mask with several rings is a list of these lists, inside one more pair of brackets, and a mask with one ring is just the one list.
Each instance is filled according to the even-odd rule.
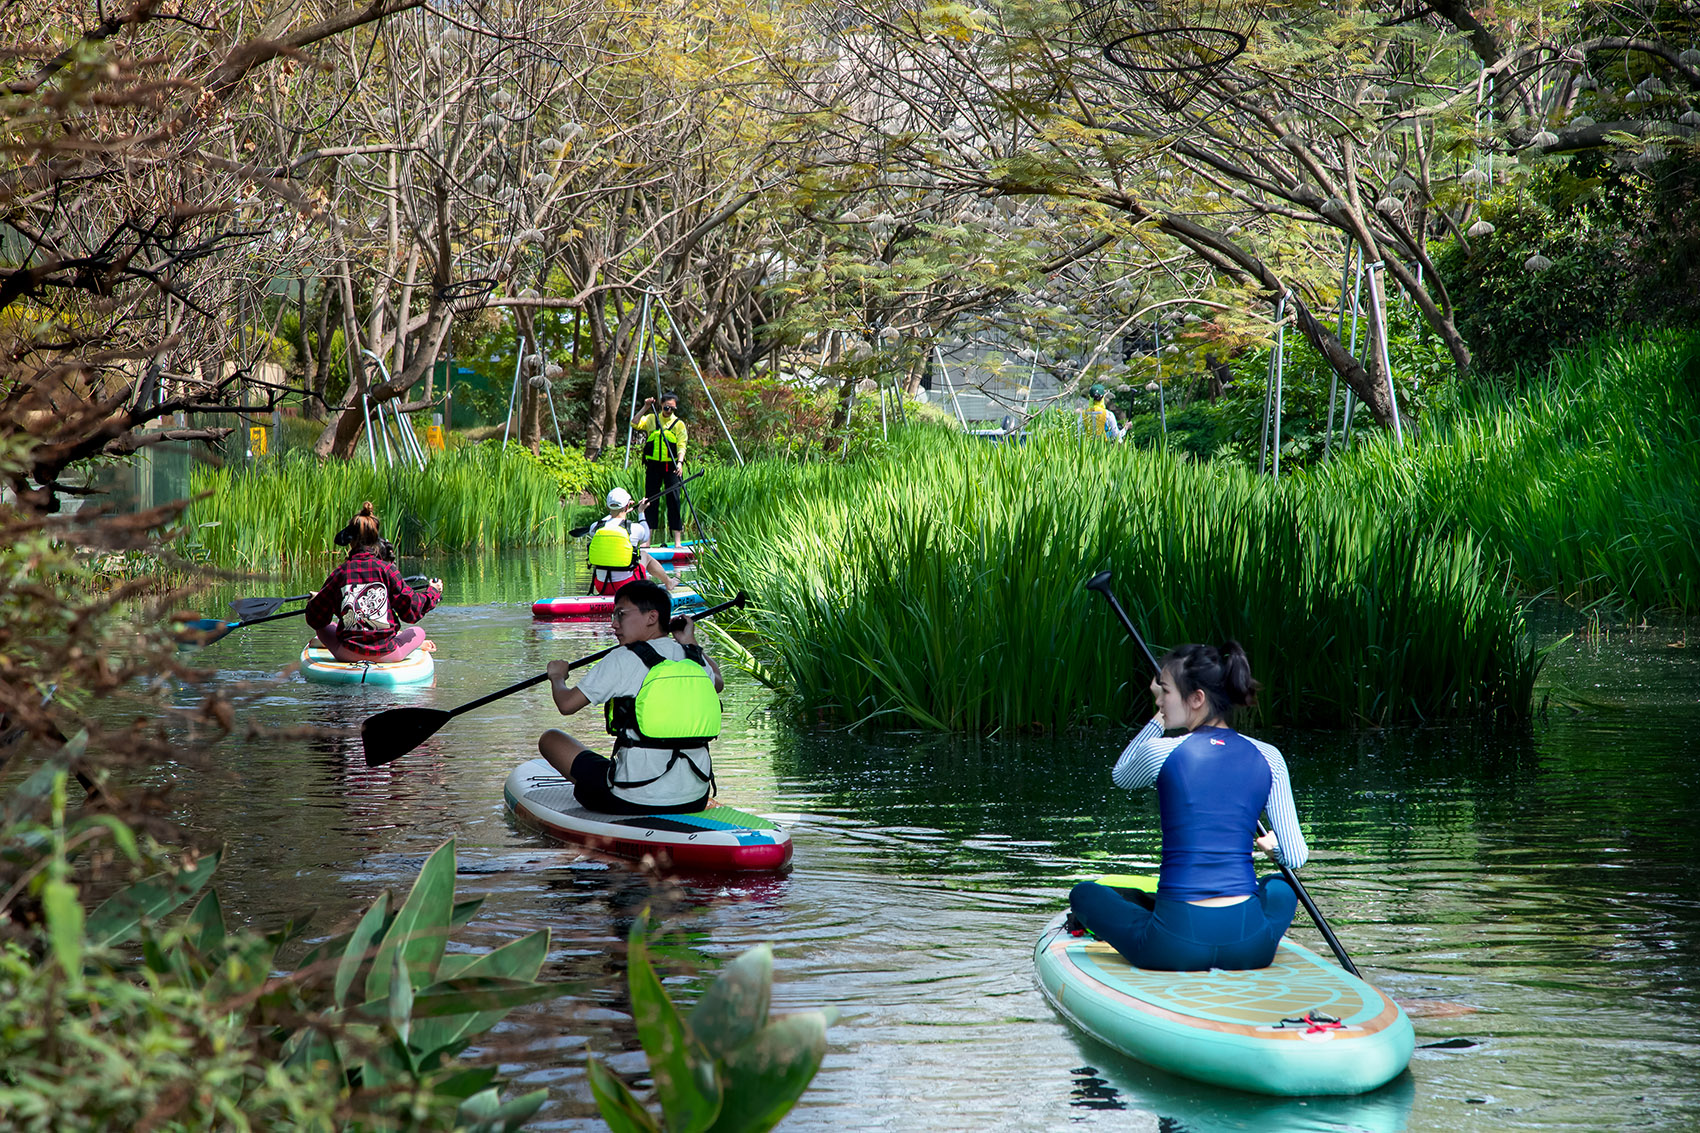
[[711,806],[692,815],[602,815],[585,810],[546,759],[520,764],[502,788],[513,817],[564,842],[673,869],[774,873],[790,864],[790,835],[760,815]]

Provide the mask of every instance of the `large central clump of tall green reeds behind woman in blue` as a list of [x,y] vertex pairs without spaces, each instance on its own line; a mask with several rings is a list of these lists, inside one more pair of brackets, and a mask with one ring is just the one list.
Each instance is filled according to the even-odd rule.
[[1256,715],[1306,725],[1528,713],[1538,660],[1467,532],[1221,464],[908,430],[876,461],[704,478],[704,575],[809,718],[952,732],[1127,721],[1144,662],[1081,584],[1115,572],[1154,646],[1238,638]]

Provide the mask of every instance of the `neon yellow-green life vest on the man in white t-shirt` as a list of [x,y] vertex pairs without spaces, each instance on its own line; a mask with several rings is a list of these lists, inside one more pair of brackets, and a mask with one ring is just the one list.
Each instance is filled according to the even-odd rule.
[[615,696],[607,703],[609,735],[615,754],[624,747],[673,749],[673,757],[660,776],[636,783],[609,779],[610,786],[641,788],[654,783],[673,769],[680,759],[704,783],[714,781],[712,771],[697,767],[685,749],[707,747],[721,735],[721,694],[714,691],[709,662],[697,645],[685,646],[683,660],[668,660],[648,641],[627,645],[632,655],[649,670],[636,696]]

